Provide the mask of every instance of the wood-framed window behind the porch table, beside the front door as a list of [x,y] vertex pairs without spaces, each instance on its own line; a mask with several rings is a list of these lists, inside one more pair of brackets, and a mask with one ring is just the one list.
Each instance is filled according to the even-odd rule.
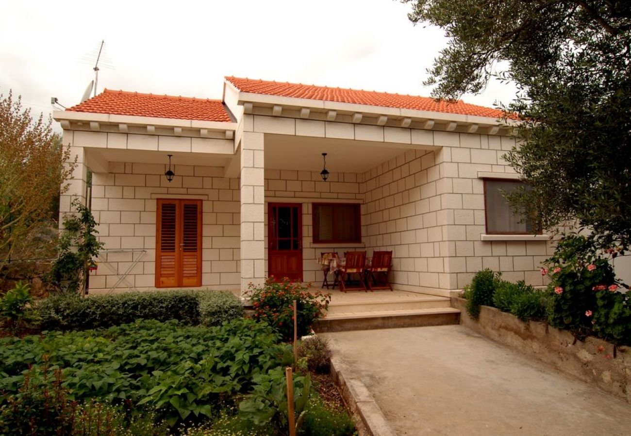
[[362,214],[358,204],[313,205],[314,243],[362,242]]

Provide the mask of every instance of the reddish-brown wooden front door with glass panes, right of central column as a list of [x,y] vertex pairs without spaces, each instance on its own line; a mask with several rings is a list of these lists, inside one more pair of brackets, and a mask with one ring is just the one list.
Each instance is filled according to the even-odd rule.
[[268,275],[302,282],[301,204],[269,204]]

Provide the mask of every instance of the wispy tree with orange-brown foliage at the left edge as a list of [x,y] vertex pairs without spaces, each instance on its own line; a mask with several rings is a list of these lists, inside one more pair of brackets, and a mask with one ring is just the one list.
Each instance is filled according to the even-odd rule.
[[0,94],[0,267],[13,256],[37,256],[52,207],[74,169],[69,150],[51,129],[52,120],[33,120],[21,98]]

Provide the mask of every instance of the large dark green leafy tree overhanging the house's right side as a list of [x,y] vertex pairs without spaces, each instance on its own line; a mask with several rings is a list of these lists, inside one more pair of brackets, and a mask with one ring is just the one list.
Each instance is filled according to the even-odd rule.
[[[403,0],[449,45],[427,84],[454,99],[497,76],[519,92],[521,145],[506,156],[533,189],[510,196],[545,229],[576,220],[601,246],[631,244],[631,2]],[[495,72],[501,61],[504,71]]]

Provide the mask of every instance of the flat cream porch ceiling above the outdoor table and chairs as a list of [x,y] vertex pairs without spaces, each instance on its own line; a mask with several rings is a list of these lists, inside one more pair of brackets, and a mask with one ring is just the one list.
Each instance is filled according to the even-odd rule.
[[321,171],[322,153],[331,172],[363,173],[409,149],[437,149],[391,142],[265,135],[265,168]]

